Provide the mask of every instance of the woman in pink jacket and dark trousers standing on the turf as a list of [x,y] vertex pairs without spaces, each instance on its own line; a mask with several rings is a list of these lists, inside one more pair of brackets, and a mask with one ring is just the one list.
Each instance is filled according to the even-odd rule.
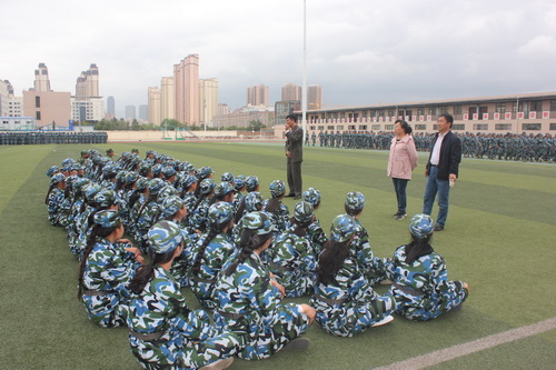
[[388,176],[394,181],[394,190],[398,199],[398,211],[394,213],[396,220],[403,220],[407,216],[407,181],[411,180],[411,172],[417,167],[417,150],[411,131],[411,127],[404,120],[397,120],[394,123]]

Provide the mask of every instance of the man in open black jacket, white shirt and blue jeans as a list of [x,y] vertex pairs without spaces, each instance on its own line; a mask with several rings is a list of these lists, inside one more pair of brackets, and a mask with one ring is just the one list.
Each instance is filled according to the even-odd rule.
[[439,210],[435,231],[440,231],[444,230],[448,217],[450,187],[456,183],[458,178],[461,142],[450,130],[454,123],[454,118],[450,114],[441,114],[436,123],[438,124],[438,133],[433,141],[433,149],[425,170],[427,187],[425,188],[423,213],[431,213],[436,193],[438,193]]

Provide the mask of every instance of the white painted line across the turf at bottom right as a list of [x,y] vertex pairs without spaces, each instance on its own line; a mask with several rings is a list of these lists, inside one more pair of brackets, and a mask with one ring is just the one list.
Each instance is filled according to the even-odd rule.
[[488,336],[467,343],[457,344],[434,351],[427,354],[417,356],[404,361],[395,362],[385,367],[375,368],[376,370],[417,370],[431,367],[441,362],[457,359],[459,357],[483,351],[496,346],[513,342],[530,336],[556,329],[556,318],[539,321],[530,326],[520,327],[503,331],[497,334]]

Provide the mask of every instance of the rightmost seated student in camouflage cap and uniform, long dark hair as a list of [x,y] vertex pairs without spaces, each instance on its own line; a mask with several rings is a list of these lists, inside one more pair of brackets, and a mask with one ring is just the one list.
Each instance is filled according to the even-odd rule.
[[415,214],[409,222],[411,241],[398,247],[387,264],[394,281],[396,313],[409,320],[430,320],[444,312],[459,310],[469,296],[466,282],[448,280],[444,258],[430,246],[435,222],[428,214]]

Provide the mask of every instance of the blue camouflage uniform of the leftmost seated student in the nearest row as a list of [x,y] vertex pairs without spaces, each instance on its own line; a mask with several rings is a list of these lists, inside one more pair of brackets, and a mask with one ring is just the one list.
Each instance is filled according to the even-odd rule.
[[125,323],[128,284],[138,263],[127,244],[99,240],[87,258],[83,272],[83,304],[89,318],[103,328]]

